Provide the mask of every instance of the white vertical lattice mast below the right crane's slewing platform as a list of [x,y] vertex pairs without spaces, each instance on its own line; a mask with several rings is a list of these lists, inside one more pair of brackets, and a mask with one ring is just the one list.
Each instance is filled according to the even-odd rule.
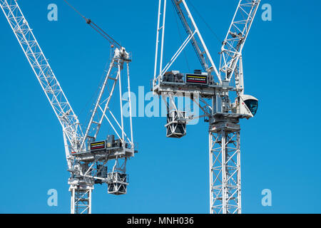
[[240,214],[240,132],[210,132],[210,213]]

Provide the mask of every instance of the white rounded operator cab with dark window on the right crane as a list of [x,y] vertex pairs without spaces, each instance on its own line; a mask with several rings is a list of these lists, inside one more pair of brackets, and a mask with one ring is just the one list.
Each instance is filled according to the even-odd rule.
[[258,111],[258,99],[252,95],[240,95],[235,99],[236,112],[253,118]]

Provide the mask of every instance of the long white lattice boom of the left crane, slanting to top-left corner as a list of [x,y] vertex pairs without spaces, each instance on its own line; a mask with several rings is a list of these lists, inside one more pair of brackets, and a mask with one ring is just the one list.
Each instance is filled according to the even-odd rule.
[[54,109],[54,113],[63,128],[63,134],[68,141],[68,148],[71,150],[79,150],[78,145],[79,142],[81,142],[83,133],[79,125],[78,117],[73,112],[60,83],[51,70],[49,62],[44,56],[28,21],[26,21],[16,1],[11,0],[8,2],[7,0],[1,0],[0,6],[41,88],[44,90],[51,107]]

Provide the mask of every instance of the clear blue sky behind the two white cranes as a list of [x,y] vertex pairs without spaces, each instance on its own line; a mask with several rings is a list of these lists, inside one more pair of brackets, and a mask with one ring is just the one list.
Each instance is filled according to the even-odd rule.
[[[237,1],[192,2],[223,40]],[[47,20],[51,3],[58,6],[58,21]],[[131,51],[132,90],[149,91],[158,1],[71,3]],[[321,3],[262,3],[271,4],[272,21],[258,11],[243,51],[245,91],[260,100],[255,118],[241,120],[243,213],[320,213]],[[86,104],[110,55],[108,42],[62,0],[19,4],[73,109],[86,120]],[[218,64],[220,42],[198,14],[195,21]],[[61,127],[2,13],[0,27],[0,212],[68,213]],[[208,213],[208,125],[188,126],[180,140],[165,138],[163,125],[165,118],[134,119],[139,153],[128,163],[128,195],[108,195],[106,185],[96,186],[93,213]],[[58,207],[47,205],[49,189],[58,191]],[[264,189],[272,191],[272,207],[261,204]]]

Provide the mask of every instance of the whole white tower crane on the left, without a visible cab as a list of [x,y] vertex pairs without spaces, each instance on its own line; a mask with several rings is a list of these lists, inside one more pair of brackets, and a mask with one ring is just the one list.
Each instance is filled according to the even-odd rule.
[[[131,118],[130,54],[103,29],[83,16],[87,24],[111,42],[113,51],[111,62],[104,71],[103,83],[98,91],[91,118],[83,131],[78,116],[63,93],[17,1],[0,0],[0,6],[61,124],[68,172],[71,174],[68,179],[71,213],[91,213],[91,193],[96,184],[106,183],[109,194],[126,194],[128,186],[126,162],[137,152],[133,142]],[[127,72],[125,76],[127,80],[124,83],[126,85],[122,85],[123,71]],[[111,100],[115,97],[117,84],[120,115],[111,110]],[[129,103],[129,118],[126,119],[123,117],[124,86],[128,92]],[[103,120],[107,120],[115,135],[108,135],[107,138],[98,140]]]

